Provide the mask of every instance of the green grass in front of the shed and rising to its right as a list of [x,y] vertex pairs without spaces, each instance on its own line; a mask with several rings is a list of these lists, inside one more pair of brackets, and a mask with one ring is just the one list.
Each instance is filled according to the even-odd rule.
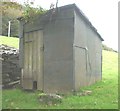
[[3,109],[117,109],[118,54],[103,50],[102,81],[81,90],[90,90],[92,94],[69,94],[64,96],[61,104],[53,106],[43,106],[38,102],[39,91],[33,93],[21,89],[3,90]]

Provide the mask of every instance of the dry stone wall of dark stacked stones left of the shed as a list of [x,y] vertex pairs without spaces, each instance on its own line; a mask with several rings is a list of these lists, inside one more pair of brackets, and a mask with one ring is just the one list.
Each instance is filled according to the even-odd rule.
[[20,80],[19,50],[7,45],[0,45],[2,56],[2,86]]

